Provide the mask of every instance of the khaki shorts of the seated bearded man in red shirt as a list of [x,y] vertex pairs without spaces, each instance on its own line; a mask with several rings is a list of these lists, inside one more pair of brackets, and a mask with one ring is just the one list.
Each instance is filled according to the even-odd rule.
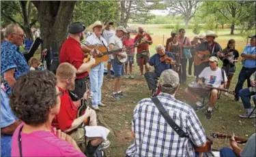
[[85,128],[77,128],[70,134],[70,137],[76,141],[81,152],[85,153],[86,146],[91,141],[91,138],[85,137]]

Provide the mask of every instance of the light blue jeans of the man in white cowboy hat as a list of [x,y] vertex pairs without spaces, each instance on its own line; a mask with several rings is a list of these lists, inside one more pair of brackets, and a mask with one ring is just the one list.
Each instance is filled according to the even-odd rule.
[[91,68],[89,71],[89,78],[91,82],[91,92],[93,96],[91,103],[93,107],[98,106],[101,102],[101,86],[103,84],[103,75],[104,75],[104,63],[96,65],[96,67]]

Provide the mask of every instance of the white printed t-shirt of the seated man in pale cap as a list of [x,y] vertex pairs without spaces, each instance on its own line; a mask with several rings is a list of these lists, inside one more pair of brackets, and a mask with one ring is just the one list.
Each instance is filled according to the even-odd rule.
[[199,78],[205,79],[205,84],[210,84],[216,88],[221,86],[221,82],[227,82],[227,75],[224,71],[224,79],[221,73],[221,68],[218,67],[216,71],[212,71],[210,67],[205,67],[203,71],[200,73]]

